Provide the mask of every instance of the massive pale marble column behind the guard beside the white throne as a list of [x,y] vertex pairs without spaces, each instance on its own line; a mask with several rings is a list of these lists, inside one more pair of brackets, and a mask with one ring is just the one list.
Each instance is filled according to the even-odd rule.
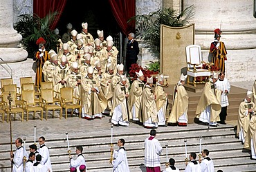
[[214,29],[223,31],[221,41],[226,45],[228,61],[226,76],[230,81],[256,78],[256,19],[251,0],[184,0],[184,8],[194,4],[195,43],[201,46],[203,59],[208,60]]

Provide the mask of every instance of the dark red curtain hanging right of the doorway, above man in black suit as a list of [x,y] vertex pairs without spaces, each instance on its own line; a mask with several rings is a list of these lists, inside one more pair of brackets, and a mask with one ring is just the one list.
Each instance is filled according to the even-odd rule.
[[109,0],[113,16],[124,34],[134,32],[135,22],[127,21],[135,16],[136,0]]

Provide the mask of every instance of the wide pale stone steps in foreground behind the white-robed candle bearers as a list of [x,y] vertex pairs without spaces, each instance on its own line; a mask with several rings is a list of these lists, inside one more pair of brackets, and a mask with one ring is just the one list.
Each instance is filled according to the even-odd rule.
[[[108,120],[109,117],[98,120],[100,128],[92,129],[91,125],[95,125],[95,120],[87,121],[72,118],[72,121],[68,122],[68,120],[49,119],[47,122],[51,122],[51,128],[44,127],[39,129],[38,132],[45,132],[46,146],[50,149],[53,171],[68,171],[68,153],[64,131],[62,134],[57,134],[57,131],[51,134],[48,132],[53,129],[53,124],[57,122],[59,123],[57,128],[74,123],[78,126],[84,122],[84,128],[80,128],[76,132],[73,130],[68,134],[70,135],[71,154],[75,156],[75,146],[82,145],[88,171],[111,171],[112,166],[109,164],[110,128]],[[15,121],[15,123],[22,122]],[[86,125],[86,123],[88,124]],[[31,127],[33,128],[33,125]],[[59,131],[62,130],[60,129]],[[125,148],[127,149],[130,170],[134,172],[145,171],[145,166],[143,165],[144,140],[149,137],[150,130],[134,123],[131,123],[129,127],[114,127],[113,130],[115,142],[118,138],[126,140]],[[166,144],[168,144],[168,158],[174,158],[176,166],[183,171],[185,169],[184,140],[187,140],[188,153],[196,152],[196,154],[199,154],[199,136],[203,137],[202,149],[210,150],[210,157],[214,161],[216,171],[217,169],[222,169],[223,171],[255,171],[256,169],[256,161],[250,160],[249,153],[241,153],[241,142],[235,138],[234,127],[231,125],[220,125],[217,128],[208,128],[207,126],[196,124],[188,125],[188,127],[158,127],[157,132],[156,138],[163,147],[161,155],[162,170],[165,169]],[[27,136],[27,149],[29,144],[33,144],[33,136]],[[118,149],[116,144],[114,148]],[[9,151],[8,138],[1,139],[0,171],[10,171]]]

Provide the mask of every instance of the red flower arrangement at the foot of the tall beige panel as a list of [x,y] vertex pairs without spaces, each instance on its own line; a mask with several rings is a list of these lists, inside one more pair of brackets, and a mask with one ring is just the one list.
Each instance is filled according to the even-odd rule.
[[[154,72],[152,70],[149,70],[147,68],[143,68],[140,65],[138,65],[137,63],[131,64],[131,67],[129,68],[129,76],[131,78],[132,81],[136,80],[138,78],[138,76],[136,75],[135,72],[139,72],[140,69],[143,72],[145,79],[143,80],[144,83],[147,82],[147,77],[150,78],[152,75],[154,74],[158,74],[158,72]],[[156,78],[153,78],[153,82],[156,83]]]

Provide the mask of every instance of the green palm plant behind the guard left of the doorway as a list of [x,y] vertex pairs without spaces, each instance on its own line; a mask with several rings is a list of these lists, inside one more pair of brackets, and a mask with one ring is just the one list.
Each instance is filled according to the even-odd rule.
[[21,43],[28,52],[28,58],[33,58],[38,50],[37,39],[43,37],[46,40],[47,50],[56,50],[57,35],[50,29],[57,12],[49,13],[44,18],[37,15],[22,14],[15,23],[15,30],[22,36]]

